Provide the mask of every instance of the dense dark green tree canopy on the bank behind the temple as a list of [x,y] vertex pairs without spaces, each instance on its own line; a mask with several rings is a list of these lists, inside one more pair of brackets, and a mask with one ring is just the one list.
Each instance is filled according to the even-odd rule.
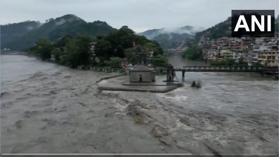
[[58,64],[71,68],[96,65],[93,59],[95,57],[98,57],[102,63],[109,61],[109,65],[114,68],[121,67],[125,57],[133,65],[138,64],[142,59],[147,63],[151,52],[154,56],[150,60],[151,63],[157,66],[167,63],[167,59],[163,56],[163,49],[156,41],[136,35],[128,26],[122,26],[109,35],[97,36],[96,39],[89,35],[79,35],[76,38],[65,35],[54,42],[40,39],[30,48],[30,53],[39,53],[43,60],[52,58]]

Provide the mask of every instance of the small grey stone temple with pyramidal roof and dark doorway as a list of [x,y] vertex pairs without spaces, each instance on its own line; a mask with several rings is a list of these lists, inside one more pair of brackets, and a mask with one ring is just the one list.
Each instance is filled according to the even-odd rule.
[[144,65],[130,70],[130,82],[155,82],[156,71]]

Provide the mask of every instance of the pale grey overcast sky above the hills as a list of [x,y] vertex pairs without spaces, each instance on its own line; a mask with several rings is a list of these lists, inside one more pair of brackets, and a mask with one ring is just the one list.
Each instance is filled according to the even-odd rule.
[[185,25],[208,28],[231,16],[231,10],[275,10],[278,0],[1,0],[1,24],[44,22],[75,14],[87,22],[128,25],[135,32]]

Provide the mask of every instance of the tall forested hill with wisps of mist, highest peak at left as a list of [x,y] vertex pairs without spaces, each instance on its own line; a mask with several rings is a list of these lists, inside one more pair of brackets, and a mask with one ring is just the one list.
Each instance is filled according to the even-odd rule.
[[66,34],[72,35],[73,37],[81,34],[98,36],[106,35],[116,30],[116,28],[109,26],[106,22],[95,21],[87,23],[75,15],[68,14],[57,17],[56,19],[50,18],[42,26],[30,30],[18,39],[3,46],[11,50],[23,50],[33,46],[41,38],[53,41]]

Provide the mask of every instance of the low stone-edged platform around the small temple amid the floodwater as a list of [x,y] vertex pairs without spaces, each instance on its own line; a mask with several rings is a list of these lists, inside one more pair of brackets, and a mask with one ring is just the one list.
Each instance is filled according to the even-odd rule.
[[[169,85],[163,82],[165,77],[158,77],[158,81],[150,83],[128,83],[129,76],[119,76],[100,81],[98,88],[100,90],[111,90],[111,91],[140,91],[140,92],[169,92],[178,88],[177,85]],[[159,80],[161,80],[159,82]],[[122,83],[126,84],[123,85]]]

